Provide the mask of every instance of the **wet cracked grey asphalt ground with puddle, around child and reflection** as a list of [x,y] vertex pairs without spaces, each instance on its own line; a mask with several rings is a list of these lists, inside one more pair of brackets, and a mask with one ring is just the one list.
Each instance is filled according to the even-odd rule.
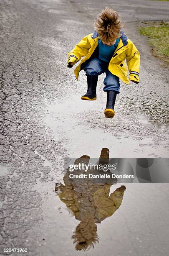
[[[126,20],[141,54],[141,82],[121,82],[113,119],[103,114],[104,75],[98,99],[82,101],[86,76],[77,82],[66,67],[106,5]],[[85,252],[71,239],[79,220],[54,191],[67,157],[98,158],[102,148],[114,158],[168,157],[168,69],[138,31],[142,20],[168,20],[168,11],[169,3],[148,0],[0,1],[0,255],[168,255],[168,184],[127,184],[119,210],[97,224],[99,243]]]

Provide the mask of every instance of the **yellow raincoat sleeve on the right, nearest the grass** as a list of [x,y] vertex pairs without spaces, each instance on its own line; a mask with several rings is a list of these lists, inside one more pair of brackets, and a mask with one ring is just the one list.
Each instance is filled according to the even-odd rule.
[[129,69],[129,80],[139,83],[140,54],[136,46],[131,42],[129,49],[126,50],[126,61]]

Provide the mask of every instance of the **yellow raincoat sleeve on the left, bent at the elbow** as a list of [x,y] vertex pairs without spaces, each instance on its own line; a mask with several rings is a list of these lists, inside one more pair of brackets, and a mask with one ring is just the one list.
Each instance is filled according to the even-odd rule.
[[88,41],[88,36],[85,36],[81,39],[81,41],[76,44],[75,48],[68,53],[68,59],[70,57],[76,58],[76,62],[78,62],[81,57],[86,56],[88,54],[88,50],[91,48],[91,45]]

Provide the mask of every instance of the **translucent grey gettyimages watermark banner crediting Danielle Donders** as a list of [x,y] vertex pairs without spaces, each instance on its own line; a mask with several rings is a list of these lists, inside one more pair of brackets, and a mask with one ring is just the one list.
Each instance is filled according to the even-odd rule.
[[[68,159],[65,165],[70,179],[91,179],[112,183],[169,183],[169,159]],[[96,163],[96,164],[94,164]]]

